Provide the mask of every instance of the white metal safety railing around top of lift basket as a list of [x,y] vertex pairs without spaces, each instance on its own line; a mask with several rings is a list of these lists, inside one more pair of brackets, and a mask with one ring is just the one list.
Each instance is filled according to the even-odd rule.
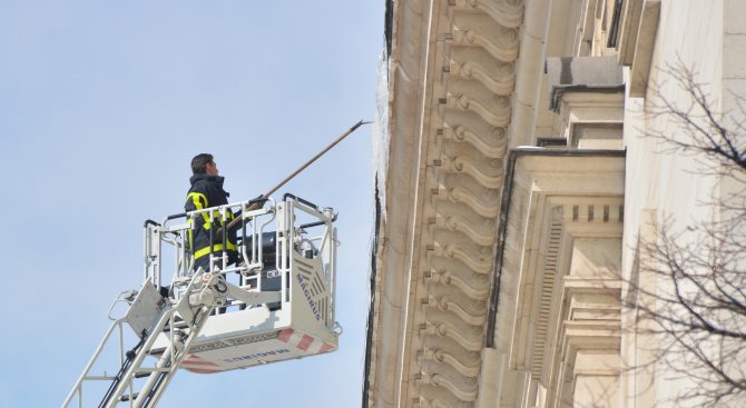
[[[254,291],[264,290],[267,279],[279,278],[279,285],[273,286],[282,291],[282,302],[288,302],[292,300],[289,279],[295,251],[304,258],[321,259],[324,280],[330,291],[334,292],[337,245],[336,230],[332,223],[336,220],[336,213],[332,208],[320,208],[291,193],[286,193],[282,201],[272,198],[247,200],[173,215],[160,223],[146,221],[145,278],[153,281],[156,287],[169,288],[171,296],[177,299],[180,297],[178,288],[188,281],[193,273],[194,258],[187,243],[189,230],[192,229],[194,233],[197,222],[204,222],[205,213],[208,215],[213,227],[209,228],[217,235],[210,237],[213,245],[226,242],[228,231],[219,227],[227,226],[233,217],[241,218],[236,242],[238,261],[229,263],[226,245],[223,245],[222,250],[209,253],[208,265],[213,273],[222,275],[225,279],[234,279],[237,275],[237,285]],[[174,270],[168,281],[163,276],[166,262],[170,262],[169,266]],[[267,272],[268,268],[273,270]],[[330,329],[334,324],[333,301],[332,298],[328,305],[325,305]],[[222,310],[230,311],[232,307],[241,305],[241,301],[230,302]]]

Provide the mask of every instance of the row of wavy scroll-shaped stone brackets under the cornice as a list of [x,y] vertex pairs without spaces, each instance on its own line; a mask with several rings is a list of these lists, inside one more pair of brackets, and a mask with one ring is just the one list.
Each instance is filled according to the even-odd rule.
[[[518,2],[514,2],[519,4]],[[453,6],[454,2],[451,2]],[[502,7],[503,2],[495,4]],[[489,282],[493,272],[499,197],[504,177],[516,87],[511,63],[518,57],[522,7],[497,21],[474,1],[472,10],[449,9],[451,37],[444,48],[443,94],[438,115],[441,141],[432,177],[429,271],[422,280],[428,298],[415,311],[424,321],[416,364],[423,406],[473,406],[479,394],[480,351],[484,347]],[[494,9],[490,9],[494,11]],[[513,24],[513,28],[510,28]],[[448,372],[458,371],[459,377]],[[455,400],[454,400],[455,398]]]

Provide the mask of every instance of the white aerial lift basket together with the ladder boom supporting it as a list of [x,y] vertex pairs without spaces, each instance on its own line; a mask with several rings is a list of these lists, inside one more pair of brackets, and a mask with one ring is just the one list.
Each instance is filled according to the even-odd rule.
[[[91,382],[109,385],[99,407],[154,407],[181,368],[215,374],[336,350],[335,219],[332,208],[285,195],[146,221],[145,282],[109,309],[114,322],[62,407],[89,406]],[[214,245],[195,267],[188,242],[200,223]],[[241,232],[237,259],[224,250],[230,228]],[[125,315],[111,317],[122,302]],[[94,374],[111,344],[117,365]]]

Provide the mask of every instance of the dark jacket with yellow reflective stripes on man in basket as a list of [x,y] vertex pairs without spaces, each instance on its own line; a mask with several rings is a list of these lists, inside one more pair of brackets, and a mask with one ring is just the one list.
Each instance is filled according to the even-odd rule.
[[[188,211],[202,210],[209,207],[217,207],[228,203],[228,192],[223,189],[224,177],[220,176],[207,176],[205,173],[198,173],[192,176],[189,182],[192,188],[187,193],[186,203],[184,209]],[[203,257],[209,257],[210,252],[210,231],[213,232],[213,252],[216,256],[220,256],[219,252],[223,251],[223,220],[218,211],[203,212],[202,215],[194,218],[196,226],[189,230],[189,249],[194,255],[195,261]],[[228,211],[226,215],[227,221],[230,222],[234,218],[233,212]],[[193,232],[194,231],[194,232]],[[232,229],[226,232],[227,242],[225,242],[225,249],[228,251],[228,259],[230,262],[235,261],[236,252],[236,230]],[[209,259],[209,258],[207,258]]]

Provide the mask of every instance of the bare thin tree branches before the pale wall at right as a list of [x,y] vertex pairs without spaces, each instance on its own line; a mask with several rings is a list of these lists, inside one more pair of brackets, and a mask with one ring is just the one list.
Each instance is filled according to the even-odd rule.
[[[656,237],[638,242],[640,272],[629,279],[625,306],[641,321],[652,322],[646,332],[661,344],[650,347],[652,358],[640,367],[664,362],[694,387],[684,390],[680,406],[722,406],[746,400],[746,108],[736,97],[734,115],[715,111],[707,86],[680,59],[666,72],[686,98],[668,99],[670,83],[652,86],[656,96],[647,112],[673,120],[680,132],[648,131],[660,141],[661,153],[691,155],[701,172],[737,181],[724,197],[710,201],[722,219],[697,221],[677,230],[686,220],[666,218]],[[668,88],[670,89],[670,88]],[[680,227],[679,227],[680,228]],[[640,273],[657,285],[640,282]]]

